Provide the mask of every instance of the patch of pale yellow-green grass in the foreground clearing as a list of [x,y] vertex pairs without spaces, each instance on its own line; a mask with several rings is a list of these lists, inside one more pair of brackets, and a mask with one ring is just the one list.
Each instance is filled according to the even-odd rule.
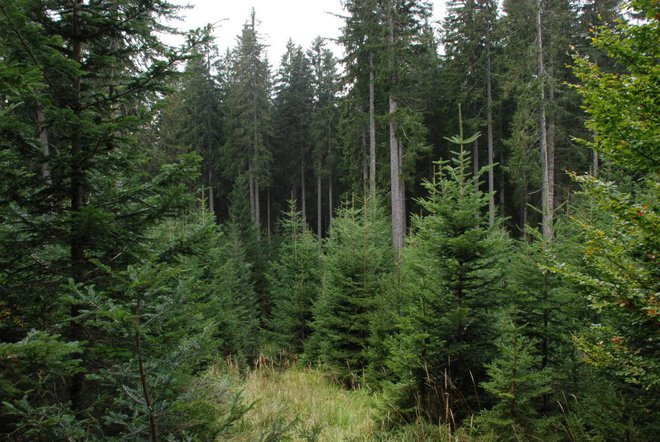
[[[227,372],[216,373],[226,377]],[[410,425],[386,430],[380,393],[342,388],[318,368],[264,367],[240,375],[230,370],[236,389],[249,409],[222,440],[252,441],[455,441],[437,426]]]

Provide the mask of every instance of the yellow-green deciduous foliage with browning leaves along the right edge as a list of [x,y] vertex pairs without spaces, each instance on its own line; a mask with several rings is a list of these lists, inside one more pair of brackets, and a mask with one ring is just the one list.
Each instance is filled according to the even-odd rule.
[[[575,218],[581,230],[579,266],[556,268],[581,285],[597,314],[590,331],[577,338],[587,363],[614,381],[622,398],[617,434],[647,440],[657,431],[658,380],[658,231],[657,96],[658,5],[631,1],[635,23],[601,28],[594,38],[621,73],[608,73],[576,58],[582,83],[578,92],[594,132],[591,145],[602,154],[613,177],[635,171],[628,180],[578,181],[588,204]],[[635,109],[630,112],[631,106]]]

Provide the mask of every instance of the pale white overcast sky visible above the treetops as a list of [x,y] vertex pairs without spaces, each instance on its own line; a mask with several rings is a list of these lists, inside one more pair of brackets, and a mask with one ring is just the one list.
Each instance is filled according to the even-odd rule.
[[[177,26],[182,29],[198,28],[207,23],[217,23],[215,36],[221,52],[236,43],[236,36],[248,20],[254,7],[258,22],[257,30],[263,43],[268,45],[271,66],[277,66],[284,54],[286,42],[308,48],[316,36],[335,39],[343,25],[340,0],[173,0],[174,3],[190,4],[192,9],[182,11],[186,18]],[[445,0],[434,0],[434,19],[444,12]],[[340,56],[339,48],[332,47]]]

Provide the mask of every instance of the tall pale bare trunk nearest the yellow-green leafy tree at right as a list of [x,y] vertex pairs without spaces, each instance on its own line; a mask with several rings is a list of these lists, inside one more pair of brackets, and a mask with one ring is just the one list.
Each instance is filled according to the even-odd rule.
[[541,0],[536,0],[536,44],[538,50],[538,70],[539,78],[541,81],[540,87],[540,145],[541,145],[541,210],[543,213],[542,231],[543,238],[546,242],[552,241],[552,190],[550,189],[550,154],[548,152],[548,130],[546,118],[546,97],[545,97],[545,81],[546,73],[543,64],[543,30],[541,21]]

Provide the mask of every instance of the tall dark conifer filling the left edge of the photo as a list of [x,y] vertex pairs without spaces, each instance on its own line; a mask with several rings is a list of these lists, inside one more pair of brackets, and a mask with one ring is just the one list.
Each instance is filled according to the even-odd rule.
[[[0,105],[7,165],[0,180],[0,280],[15,319],[10,340],[20,342],[34,328],[60,336],[42,339],[44,345],[70,344],[59,355],[64,366],[77,361],[79,368],[65,369],[48,395],[24,399],[32,409],[51,407],[60,422],[76,427],[74,434],[85,432],[81,438],[112,431],[101,416],[105,398],[121,385],[104,384],[96,373],[137,352],[132,339],[97,319],[114,314],[105,307],[132,309],[136,300],[122,277],[145,255],[154,223],[186,205],[187,180],[198,167],[189,155],[149,176],[149,146],[136,142],[185,59],[158,37],[168,32],[162,20],[174,10],[160,0],[0,6],[0,77],[9,86]],[[201,40],[201,33],[191,35],[188,44]],[[22,399],[7,403],[14,400]],[[49,437],[30,434],[20,416],[0,420],[3,433],[4,422],[16,424],[16,439]]]

